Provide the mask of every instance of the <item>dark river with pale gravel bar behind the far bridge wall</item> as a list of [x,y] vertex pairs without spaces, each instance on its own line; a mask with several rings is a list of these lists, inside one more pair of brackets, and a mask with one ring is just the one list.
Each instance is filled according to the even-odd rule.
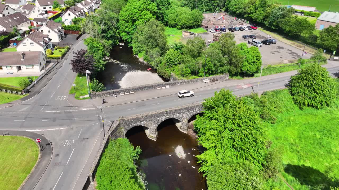
[[154,69],[147,71],[151,67],[134,56],[132,48],[127,45],[113,47],[109,57],[121,63],[107,62],[105,70],[99,72],[96,76],[104,84],[106,90],[164,81]]

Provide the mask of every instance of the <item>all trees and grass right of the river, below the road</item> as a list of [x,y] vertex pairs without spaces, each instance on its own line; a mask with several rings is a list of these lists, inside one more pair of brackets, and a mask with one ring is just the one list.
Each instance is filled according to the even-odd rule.
[[241,98],[221,90],[205,99],[194,128],[206,149],[197,158],[208,190],[290,189],[283,181],[293,189],[338,187],[338,85],[315,64],[288,89]]

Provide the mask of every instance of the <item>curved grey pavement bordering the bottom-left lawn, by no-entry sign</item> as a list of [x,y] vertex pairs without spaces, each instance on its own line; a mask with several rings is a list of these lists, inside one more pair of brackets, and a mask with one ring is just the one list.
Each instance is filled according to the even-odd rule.
[[46,168],[48,167],[51,159],[52,159],[52,153],[53,148],[51,142],[44,136],[33,133],[33,132],[27,132],[27,131],[20,131],[20,130],[0,130],[0,135],[2,133],[10,133],[11,136],[24,136],[31,138],[33,140],[39,138],[41,139],[40,144],[42,145],[42,150],[40,149],[40,160],[38,161],[37,165],[34,170],[31,171],[29,174],[28,179],[24,182],[24,186],[21,188],[21,190],[32,190],[36,186],[36,184],[39,182],[41,176],[44,174]]

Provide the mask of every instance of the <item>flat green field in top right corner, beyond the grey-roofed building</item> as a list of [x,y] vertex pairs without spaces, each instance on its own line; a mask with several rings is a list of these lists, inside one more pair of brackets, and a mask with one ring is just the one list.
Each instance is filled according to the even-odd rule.
[[290,2],[290,5],[303,5],[303,6],[312,6],[316,7],[319,11],[328,11],[331,5],[331,12],[339,11],[339,1],[338,0],[277,0],[283,5],[287,5]]

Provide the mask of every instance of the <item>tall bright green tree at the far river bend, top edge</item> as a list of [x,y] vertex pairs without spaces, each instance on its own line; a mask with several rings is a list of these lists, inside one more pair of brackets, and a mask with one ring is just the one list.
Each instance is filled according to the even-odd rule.
[[122,40],[131,44],[139,25],[155,18],[157,5],[149,0],[128,0],[119,14],[119,32]]

